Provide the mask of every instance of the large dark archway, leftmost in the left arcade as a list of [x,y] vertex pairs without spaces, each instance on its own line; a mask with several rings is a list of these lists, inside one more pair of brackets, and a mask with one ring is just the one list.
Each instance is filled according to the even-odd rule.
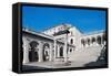
[[29,61],[30,62],[38,62],[39,61],[39,54],[38,51],[36,50],[39,43],[37,41],[31,41],[29,43],[30,45],[30,51],[29,51]]

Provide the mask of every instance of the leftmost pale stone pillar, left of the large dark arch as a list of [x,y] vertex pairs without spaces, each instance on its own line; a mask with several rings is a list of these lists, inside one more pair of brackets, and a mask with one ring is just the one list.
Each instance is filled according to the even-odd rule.
[[29,63],[29,42],[23,37],[23,63]]

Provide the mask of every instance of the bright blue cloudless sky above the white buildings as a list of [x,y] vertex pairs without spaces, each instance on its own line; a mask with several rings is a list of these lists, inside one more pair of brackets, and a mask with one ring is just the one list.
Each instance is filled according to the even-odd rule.
[[105,11],[28,6],[22,7],[23,28],[41,32],[61,23],[70,23],[83,33],[105,30]]

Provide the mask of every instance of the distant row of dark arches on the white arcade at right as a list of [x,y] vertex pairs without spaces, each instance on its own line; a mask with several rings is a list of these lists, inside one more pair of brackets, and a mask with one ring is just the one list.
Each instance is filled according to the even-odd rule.
[[93,45],[102,45],[105,42],[105,34],[100,33],[95,35],[87,35],[81,37],[81,46],[87,47],[87,46],[93,46]]

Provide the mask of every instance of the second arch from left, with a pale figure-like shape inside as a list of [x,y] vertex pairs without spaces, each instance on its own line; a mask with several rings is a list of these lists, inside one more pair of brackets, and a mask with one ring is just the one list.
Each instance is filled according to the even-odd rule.
[[48,43],[43,44],[43,61],[49,61],[49,51],[50,51],[50,45]]

